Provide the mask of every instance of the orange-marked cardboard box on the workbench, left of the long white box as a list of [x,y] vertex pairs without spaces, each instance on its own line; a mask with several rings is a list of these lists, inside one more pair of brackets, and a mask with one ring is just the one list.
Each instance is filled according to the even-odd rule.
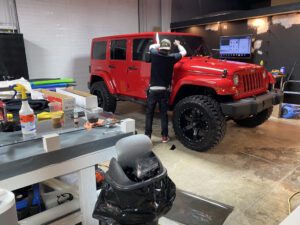
[[64,94],[48,91],[45,89],[40,90],[43,93],[44,98],[49,102],[60,102],[63,111],[69,111],[75,109],[75,98]]

